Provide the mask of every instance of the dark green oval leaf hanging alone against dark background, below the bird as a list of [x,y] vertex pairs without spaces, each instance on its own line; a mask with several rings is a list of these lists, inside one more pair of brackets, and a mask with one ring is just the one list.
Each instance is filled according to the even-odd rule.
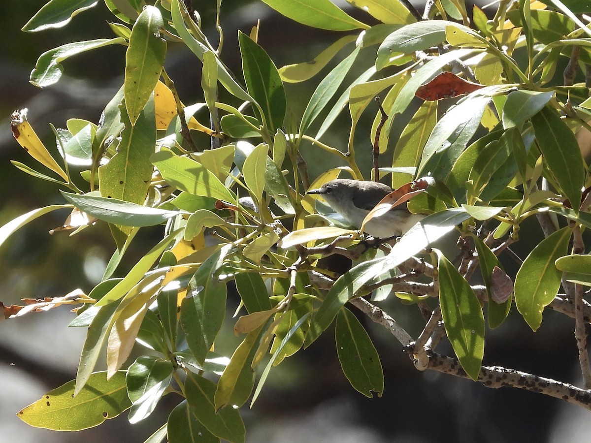
[[347,308],[342,308],[336,317],[336,350],[343,373],[356,390],[366,397],[373,393],[382,396],[384,372],[378,351],[357,317]]

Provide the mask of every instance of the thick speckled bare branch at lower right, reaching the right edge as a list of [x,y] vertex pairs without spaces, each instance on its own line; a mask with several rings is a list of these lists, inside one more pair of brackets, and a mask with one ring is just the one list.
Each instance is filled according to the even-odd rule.
[[[427,350],[427,355],[429,357],[428,369],[470,379],[456,359],[442,356],[431,350]],[[591,411],[591,392],[569,383],[558,382],[557,380],[538,377],[537,375],[500,366],[480,367],[478,381],[486,387],[518,387],[531,392],[542,393],[550,397],[563,399]]]

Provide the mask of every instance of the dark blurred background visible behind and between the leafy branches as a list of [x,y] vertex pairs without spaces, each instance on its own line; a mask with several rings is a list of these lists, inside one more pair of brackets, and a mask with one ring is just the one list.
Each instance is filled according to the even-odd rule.
[[[194,1],[207,35],[216,41],[214,2]],[[9,160],[35,165],[12,138],[9,116],[15,109],[28,108],[29,119],[50,149],[55,149],[49,123],[65,128],[66,120],[83,118],[97,123],[100,112],[122,84],[125,47],[101,48],[64,62],[59,83],[38,89],[28,83],[37,57],[44,51],[72,41],[111,37],[106,21],[115,21],[102,2],[73,18],[65,28],[28,34],[20,31],[43,1],[19,2],[18,7],[0,6],[0,225],[14,217],[48,204],[64,203],[57,187],[18,171]],[[421,6],[420,6],[421,7]],[[371,18],[349,11],[366,22]],[[492,9],[488,12],[493,12]],[[249,32],[261,19],[259,44],[277,66],[309,60],[340,37],[291,22],[258,1],[224,0],[222,27],[225,30],[223,59],[235,73],[241,70],[237,30]],[[371,61],[372,54],[366,55]],[[181,45],[169,45],[167,69],[184,103],[203,101],[200,92],[200,64]],[[363,66],[368,66],[363,63]],[[365,69],[365,68],[363,68]],[[288,103],[294,116],[301,115],[306,100],[327,69],[305,84],[288,85]],[[355,78],[361,70],[352,73]],[[375,110],[366,112],[360,124],[371,124]],[[348,111],[337,128],[324,136],[333,146],[345,146],[350,122]],[[365,126],[366,127],[366,126]],[[398,128],[400,131],[402,128]],[[363,172],[371,162],[367,131],[358,129],[358,146],[366,145]],[[304,146],[311,177],[332,166],[326,155],[319,160],[316,149]],[[363,158],[364,157],[364,158]],[[335,163],[335,165],[337,165]],[[369,176],[369,175],[368,175]],[[107,242],[108,228],[98,223],[73,237],[50,236],[48,230],[63,223],[67,211],[41,217],[15,233],[0,249],[0,300],[18,304],[21,298],[57,297],[82,288],[89,292],[100,280],[115,244]],[[532,235],[531,243],[515,245],[522,258],[540,238],[535,226],[522,232]],[[161,227],[143,229],[132,243],[129,262],[134,264],[161,234]],[[534,238],[535,237],[535,238]],[[142,246],[144,245],[144,246]],[[506,263],[511,266],[511,263]],[[123,272],[122,271],[122,272]],[[238,299],[232,299],[233,312]],[[407,330],[420,332],[420,315],[414,307],[397,300],[382,304]],[[352,308],[355,311],[355,308]],[[178,402],[167,396],[153,418],[129,425],[126,413],[98,428],[80,433],[59,433],[31,428],[16,416],[21,408],[41,398],[48,390],[73,379],[85,330],[67,328],[73,314],[67,308],[27,315],[0,322],[0,417],[2,441],[142,442],[162,423]],[[437,372],[417,372],[400,344],[381,327],[360,316],[374,338],[385,372],[382,398],[367,399],[350,387],[336,357],[332,335],[324,334],[308,350],[285,360],[271,376],[254,408],[243,408],[249,442],[583,442],[591,435],[591,415],[560,400],[517,389],[487,389],[482,385]],[[225,334],[229,355],[236,345],[232,320],[228,316]],[[498,330],[487,331],[484,364],[504,366],[580,385],[574,321],[553,311],[532,333],[515,312]],[[437,349],[451,353],[447,343]]]

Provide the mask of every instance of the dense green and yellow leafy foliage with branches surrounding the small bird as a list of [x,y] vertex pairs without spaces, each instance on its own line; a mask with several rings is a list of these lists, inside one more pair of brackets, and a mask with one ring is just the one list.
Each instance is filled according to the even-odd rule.
[[[68,208],[57,232],[108,223],[116,244],[102,282],[88,294],[76,289],[4,307],[6,317],[19,317],[75,305],[71,326],[88,328],[76,380],[20,418],[73,431],[129,409],[129,421],[138,422],[175,392],[183,401],[148,441],[197,435],[244,441],[235,406],[255,402],[269,371],[333,323],[351,385],[368,397],[381,395],[378,353],[351,307],[386,328],[419,370],[525,387],[591,408],[585,332],[591,307],[583,299],[591,260],[582,236],[591,226],[589,178],[575,135],[591,129],[591,31],[580,18],[591,12],[587,2],[501,0],[489,18],[460,0],[428,2],[423,14],[405,0],[350,1],[368,13],[363,21],[329,0],[264,2],[301,24],[343,35],[313,60],[277,69],[257,43],[265,30],[255,26],[237,36],[242,73],[232,73],[220,57],[224,39],[236,36],[223,35],[220,0],[217,46],[190,2],[104,0],[115,37],[39,57],[31,83],[46,87],[60,80],[66,58],[126,46],[124,84],[100,121],[72,118],[67,128],[52,127],[61,158],[37,137],[27,110],[12,115],[15,139],[48,171],[15,167],[59,186],[67,203],[17,217],[0,228],[0,242]],[[98,3],[51,0],[23,30],[64,27]],[[203,103],[185,105],[178,96],[165,69],[174,45],[202,62]],[[375,63],[350,81],[352,67],[369,59]],[[556,67],[565,60],[557,81]],[[579,66],[586,86],[575,83]],[[285,84],[326,71],[294,117]],[[352,121],[347,149],[340,150],[320,140],[346,108]],[[360,123],[364,112],[375,113],[370,127]],[[358,133],[374,145],[371,175],[359,166],[369,153],[357,149]],[[305,144],[343,166],[309,177]],[[306,194],[340,174],[398,188],[382,211],[410,199],[411,211],[428,215],[398,242],[369,241]],[[532,216],[545,239],[508,275],[498,256],[510,253]],[[138,230],[155,225],[163,225],[160,242],[117,277]],[[459,255],[431,249],[452,232]],[[331,269],[323,258],[333,254],[351,259],[352,267]],[[475,284],[475,273],[484,285]],[[230,281],[241,297],[234,332],[242,343],[223,356],[216,345]],[[362,298],[369,294],[371,301]],[[378,308],[394,297],[425,315],[417,337]],[[513,304],[534,331],[548,306],[575,318],[583,388],[482,366],[486,329],[502,327]],[[434,351],[444,337],[455,356]],[[145,354],[125,367],[134,347]],[[106,371],[95,372],[105,348]]]

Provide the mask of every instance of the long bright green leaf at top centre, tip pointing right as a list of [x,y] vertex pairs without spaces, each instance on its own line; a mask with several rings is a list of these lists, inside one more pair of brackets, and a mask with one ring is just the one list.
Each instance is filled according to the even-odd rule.
[[329,0],[263,0],[275,11],[298,23],[330,31],[367,29],[368,25],[345,14]]

